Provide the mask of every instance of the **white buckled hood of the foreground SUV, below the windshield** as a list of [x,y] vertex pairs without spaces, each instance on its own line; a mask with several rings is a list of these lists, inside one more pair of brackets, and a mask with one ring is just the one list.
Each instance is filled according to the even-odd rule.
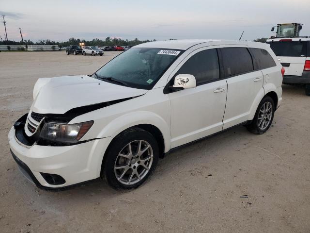
[[64,114],[72,108],[136,97],[148,91],[87,75],[41,78],[33,89],[31,111],[41,114]]

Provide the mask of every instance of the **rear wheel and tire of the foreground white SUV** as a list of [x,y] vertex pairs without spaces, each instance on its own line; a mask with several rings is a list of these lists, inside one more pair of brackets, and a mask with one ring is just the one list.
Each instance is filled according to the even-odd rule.
[[275,115],[275,103],[270,96],[265,96],[258,105],[254,119],[247,125],[248,131],[255,134],[265,133],[271,126]]

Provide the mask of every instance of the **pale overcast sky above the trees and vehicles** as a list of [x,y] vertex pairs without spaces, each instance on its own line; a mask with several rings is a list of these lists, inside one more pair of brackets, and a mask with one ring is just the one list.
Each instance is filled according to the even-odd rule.
[[[243,39],[273,35],[277,23],[303,23],[310,35],[310,0],[0,0],[9,40]],[[2,20],[1,20],[2,21]],[[0,35],[4,38],[4,26]]]

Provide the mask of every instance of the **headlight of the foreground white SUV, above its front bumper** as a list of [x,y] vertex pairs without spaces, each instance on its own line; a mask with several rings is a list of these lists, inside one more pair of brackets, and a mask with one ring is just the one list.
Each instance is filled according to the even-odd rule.
[[40,137],[49,141],[76,143],[92,127],[93,121],[78,124],[60,124],[46,122]]

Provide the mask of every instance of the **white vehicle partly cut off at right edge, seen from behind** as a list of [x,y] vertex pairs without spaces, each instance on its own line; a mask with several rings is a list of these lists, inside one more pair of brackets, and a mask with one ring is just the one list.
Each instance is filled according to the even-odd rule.
[[266,41],[284,67],[284,84],[302,84],[310,96],[310,37],[273,38]]

